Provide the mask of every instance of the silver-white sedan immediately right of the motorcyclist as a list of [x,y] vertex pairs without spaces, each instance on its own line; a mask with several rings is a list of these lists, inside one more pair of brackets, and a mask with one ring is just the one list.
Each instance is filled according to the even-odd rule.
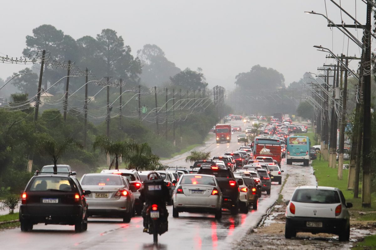
[[176,184],[172,216],[180,212],[212,213],[222,217],[222,193],[214,175],[186,174]]

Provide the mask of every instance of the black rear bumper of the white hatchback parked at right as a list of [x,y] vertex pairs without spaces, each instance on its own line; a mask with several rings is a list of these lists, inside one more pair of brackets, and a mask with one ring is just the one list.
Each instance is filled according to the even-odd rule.
[[[322,227],[308,227],[307,222],[322,222]],[[286,223],[297,232],[313,232],[339,234],[350,223],[346,219],[335,218],[315,218],[315,217],[288,217]]]

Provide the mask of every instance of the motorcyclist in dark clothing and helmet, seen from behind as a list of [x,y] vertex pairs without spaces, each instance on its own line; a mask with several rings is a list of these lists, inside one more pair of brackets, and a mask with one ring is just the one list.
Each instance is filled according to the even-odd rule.
[[[149,189],[150,186],[152,186],[152,188]],[[141,202],[145,202],[145,207],[141,213],[144,219],[144,232],[148,231],[149,223],[147,221],[146,210],[151,205],[158,205],[158,207],[164,211],[164,219],[167,220],[168,212],[166,202],[171,199],[170,192],[168,192],[166,183],[156,172],[152,171],[147,175],[147,180],[144,181],[144,189],[141,190],[139,199]]]

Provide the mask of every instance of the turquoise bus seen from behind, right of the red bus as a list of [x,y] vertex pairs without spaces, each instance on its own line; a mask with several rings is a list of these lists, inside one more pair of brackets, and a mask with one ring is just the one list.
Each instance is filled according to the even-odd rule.
[[311,141],[308,136],[289,136],[287,138],[286,162],[303,162],[303,166],[309,165]]

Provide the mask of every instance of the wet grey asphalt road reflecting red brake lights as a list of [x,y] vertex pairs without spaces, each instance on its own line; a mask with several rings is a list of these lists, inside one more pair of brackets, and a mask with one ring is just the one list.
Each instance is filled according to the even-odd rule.
[[[245,129],[239,121],[231,124],[241,124],[242,129]],[[211,151],[212,156],[235,151],[241,144],[237,142],[237,134],[239,133],[233,133],[230,143],[221,144],[216,144],[212,136],[204,146],[196,150]],[[190,164],[185,163],[183,158],[185,155],[163,163],[189,167]],[[282,170],[286,169],[284,159]],[[281,185],[273,183],[271,195],[263,192],[257,211],[250,210],[248,214],[232,216],[224,210],[220,221],[216,221],[214,215],[194,213],[180,213],[179,218],[173,218],[172,206],[168,206],[168,232],[158,237],[158,246],[153,245],[152,235],[142,232],[143,219],[136,216],[130,223],[123,223],[116,218],[90,217],[88,231],[83,233],[74,233],[74,226],[66,225],[38,224],[34,225],[33,231],[26,233],[21,232],[20,228],[10,229],[0,232],[0,249],[229,249],[250,228],[257,226],[278,198],[280,188]]]

